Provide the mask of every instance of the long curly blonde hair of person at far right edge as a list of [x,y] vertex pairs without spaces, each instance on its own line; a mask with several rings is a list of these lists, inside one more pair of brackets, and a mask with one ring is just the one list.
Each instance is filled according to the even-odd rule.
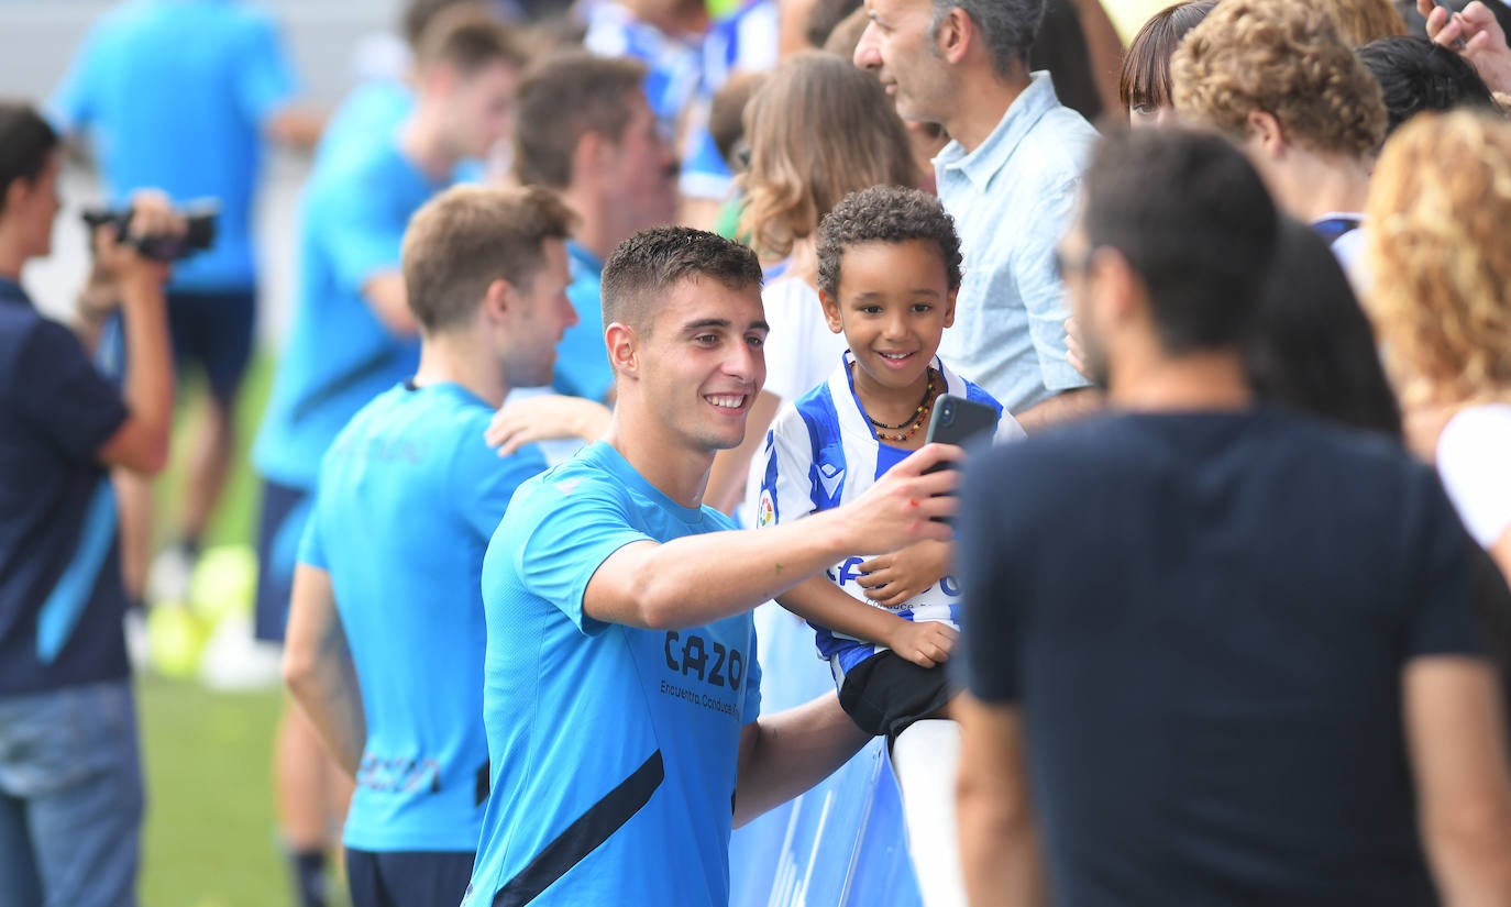
[[1380,156],[1364,221],[1366,307],[1404,402],[1511,390],[1511,124],[1411,118]]

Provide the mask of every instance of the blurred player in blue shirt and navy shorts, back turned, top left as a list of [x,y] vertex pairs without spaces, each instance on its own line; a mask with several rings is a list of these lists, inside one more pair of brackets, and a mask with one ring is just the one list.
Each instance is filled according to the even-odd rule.
[[57,128],[91,141],[112,206],[154,187],[178,206],[215,200],[219,207],[215,246],[175,266],[168,287],[174,360],[202,369],[210,390],[178,543],[154,582],[169,599],[184,593],[230,475],[236,398],[257,323],[252,209],[263,144],[308,147],[320,130],[296,92],[278,27],[260,8],[136,0],[91,29],[50,103]]

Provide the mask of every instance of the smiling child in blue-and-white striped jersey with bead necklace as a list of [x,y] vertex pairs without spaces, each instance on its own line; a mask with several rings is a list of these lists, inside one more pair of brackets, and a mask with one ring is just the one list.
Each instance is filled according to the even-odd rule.
[[[937,198],[887,186],[848,195],[819,225],[817,258],[828,327],[849,349],[828,382],[778,416],[766,437],[762,526],[866,491],[923,446],[940,395],[996,408],[997,441],[1023,435],[997,401],[935,355],[961,281],[959,237]],[[947,718],[956,692],[944,670],[959,629],[952,547],[923,541],[876,558],[857,552],[778,599],[813,627],[846,714],[893,742],[929,905],[964,904],[963,893],[953,896],[963,890],[953,845],[958,730],[925,721]]]

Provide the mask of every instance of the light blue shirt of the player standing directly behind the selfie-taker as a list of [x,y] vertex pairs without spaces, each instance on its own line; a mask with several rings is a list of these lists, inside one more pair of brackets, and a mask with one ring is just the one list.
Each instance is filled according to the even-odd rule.
[[520,482],[545,469],[484,440],[458,384],[399,385],[335,438],[299,561],[331,574],[367,741],[346,847],[471,851],[488,798],[482,561]]

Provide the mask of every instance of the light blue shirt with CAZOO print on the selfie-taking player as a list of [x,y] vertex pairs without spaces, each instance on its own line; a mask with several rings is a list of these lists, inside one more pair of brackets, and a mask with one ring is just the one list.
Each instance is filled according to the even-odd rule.
[[728,904],[739,741],[760,710],[751,615],[641,630],[583,596],[627,544],[731,528],[604,441],[520,487],[482,571],[493,789],[464,904]]

